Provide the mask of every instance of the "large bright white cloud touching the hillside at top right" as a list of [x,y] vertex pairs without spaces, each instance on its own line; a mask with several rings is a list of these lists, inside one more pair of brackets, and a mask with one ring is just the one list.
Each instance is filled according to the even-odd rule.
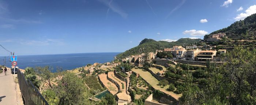
[[239,21],[239,20],[244,20],[246,17],[256,13],[256,5],[250,6],[247,10],[245,10],[245,13],[240,13],[237,15],[237,17],[234,18],[234,20]]

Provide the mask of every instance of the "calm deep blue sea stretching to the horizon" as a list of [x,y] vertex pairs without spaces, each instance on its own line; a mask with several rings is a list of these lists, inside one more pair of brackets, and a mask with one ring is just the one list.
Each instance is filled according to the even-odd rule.
[[[86,64],[93,64],[95,62],[104,63],[114,60],[117,52],[114,53],[73,53],[73,54],[48,54],[48,55],[17,55],[17,66],[25,69],[27,66],[52,66],[54,70],[57,67],[63,70],[70,70],[78,67],[85,66]],[[3,57],[0,57],[3,58]],[[11,66],[11,62],[6,58],[6,65]],[[3,60],[0,61],[3,65]]]

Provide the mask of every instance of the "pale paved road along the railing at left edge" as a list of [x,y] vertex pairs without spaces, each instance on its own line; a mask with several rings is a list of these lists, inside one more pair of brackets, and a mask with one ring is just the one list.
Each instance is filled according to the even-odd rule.
[[16,83],[10,69],[7,76],[0,73],[0,105],[18,105]]

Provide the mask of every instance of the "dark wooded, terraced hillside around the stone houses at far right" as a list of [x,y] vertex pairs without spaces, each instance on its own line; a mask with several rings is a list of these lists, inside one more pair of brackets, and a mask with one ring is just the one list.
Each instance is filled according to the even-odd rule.
[[[214,31],[216,33],[226,33],[224,38],[218,42],[206,42],[206,44],[217,45],[219,49],[232,50],[235,46],[254,49],[256,48],[256,14],[246,17],[244,20],[236,21],[227,28]],[[209,35],[205,35],[206,39]]]

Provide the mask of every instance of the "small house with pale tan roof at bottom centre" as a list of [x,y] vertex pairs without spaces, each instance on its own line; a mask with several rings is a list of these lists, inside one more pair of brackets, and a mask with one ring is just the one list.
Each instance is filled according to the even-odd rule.
[[118,100],[117,105],[128,105],[132,101],[131,96],[123,92],[116,94],[116,96]]

